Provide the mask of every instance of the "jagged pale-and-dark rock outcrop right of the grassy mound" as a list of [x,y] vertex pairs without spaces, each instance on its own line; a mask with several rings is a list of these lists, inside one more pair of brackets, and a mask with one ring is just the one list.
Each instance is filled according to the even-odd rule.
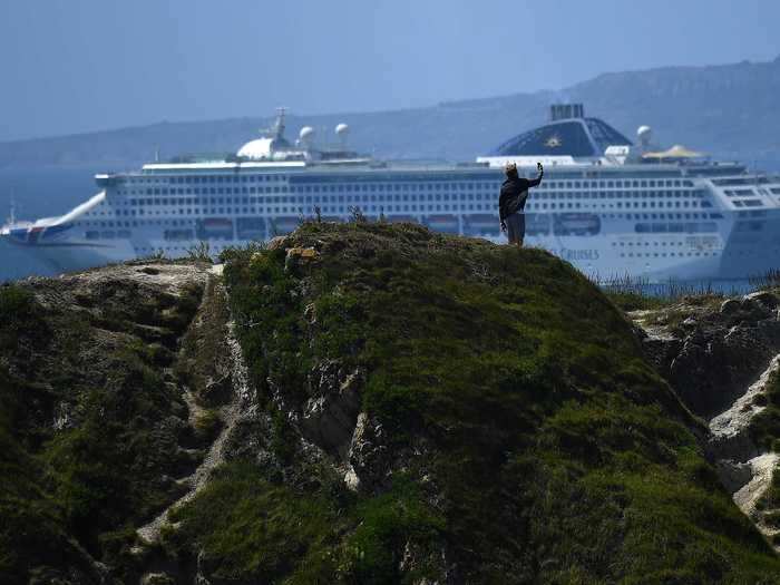
[[[690,299],[632,313],[647,359],[685,406],[708,423],[704,451],[735,504],[766,536],[778,530],[757,503],[778,472],[750,423],[766,408],[768,384],[780,376],[780,299],[759,291],[720,303]],[[771,511],[771,510],[770,510]],[[777,548],[777,547],[776,547]]]

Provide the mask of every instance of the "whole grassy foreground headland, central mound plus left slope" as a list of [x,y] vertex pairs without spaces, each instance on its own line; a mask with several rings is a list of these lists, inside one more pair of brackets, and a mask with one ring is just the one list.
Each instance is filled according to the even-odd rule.
[[[224,261],[250,383],[234,379],[224,464],[156,543],[134,530],[214,438],[194,435],[187,408],[230,388],[195,359],[192,328],[223,326],[207,294],[196,309],[203,269],[0,287],[0,342],[14,348],[0,358],[0,509],[16,518],[0,525],[3,574],[780,583],[780,558],[704,460],[705,429],[569,264],[362,222],[306,223]],[[186,398],[194,378],[207,391]],[[52,426],[59,403],[68,422]]]

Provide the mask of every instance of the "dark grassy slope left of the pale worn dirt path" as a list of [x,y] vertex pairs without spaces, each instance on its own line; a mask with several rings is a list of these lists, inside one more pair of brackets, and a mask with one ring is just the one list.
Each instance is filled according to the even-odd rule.
[[[62,286],[58,300],[67,299]],[[13,340],[0,357],[3,577],[84,567],[77,542],[129,578],[133,526],[181,495],[166,476],[197,465],[177,447],[186,404],[163,378],[175,354],[135,333],[139,325],[181,331],[199,294],[142,295],[107,281],[79,293],[77,305],[45,310],[26,286],[0,287],[0,340]],[[55,429],[62,412],[67,425]]]

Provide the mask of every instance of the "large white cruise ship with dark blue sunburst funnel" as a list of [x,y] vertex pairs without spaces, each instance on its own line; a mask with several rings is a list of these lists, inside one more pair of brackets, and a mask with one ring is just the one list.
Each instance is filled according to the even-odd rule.
[[96,175],[96,195],[59,217],[3,226],[0,245],[69,271],[184,256],[203,242],[218,254],[286,234],[315,214],[504,242],[497,201],[513,160],[526,176],[545,165],[526,206],[526,245],[597,280],[742,279],[780,266],[780,177],[680,145],[661,148],[647,126],[634,144],[581,104],[553,105],[547,124],[469,163],[361,156],[349,148],[349,130],[340,124],[320,144],[306,126],[290,142],[281,110],[235,155]]

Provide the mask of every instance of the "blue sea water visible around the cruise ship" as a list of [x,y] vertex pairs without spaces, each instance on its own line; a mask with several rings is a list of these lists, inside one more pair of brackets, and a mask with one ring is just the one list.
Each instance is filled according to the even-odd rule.
[[[52,166],[35,168],[0,168],[0,223],[16,204],[19,220],[37,220],[61,215],[74,206],[98,193],[95,175],[105,173],[98,166]],[[53,271],[43,263],[13,250],[0,252],[0,282],[26,276],[51,276]],[[627,286],[650,295],[679,296],[685,293],[705,292],[741,294],[757,286],[754,280],[685,281],[669,283],[644,283],[641,280],[624,283],[607,283],[607,286]]]

